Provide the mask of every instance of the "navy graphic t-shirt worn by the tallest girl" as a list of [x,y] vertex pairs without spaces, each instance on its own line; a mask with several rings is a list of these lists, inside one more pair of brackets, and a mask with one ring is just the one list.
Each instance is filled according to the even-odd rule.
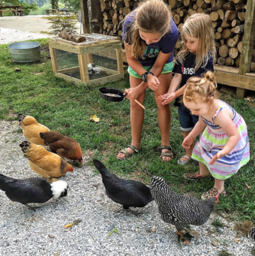
[[[135,13],[132,14],[135,15]],[[132,42],[131,38],[129,39],[128,31],[133,23],[133,20],[133,16],[128,16],[123,26],[122,37],[125,40],[125,42],[130,45],[132,44]],[[166,63],[173,62],[174,47],[177,42],[179,34],[173,19],[171,19],[171,24],[169,24],[169,26],[171,27],[171,30],[167,34],[163,35],[162,38],[157,43],[151,43],[149,45],[145,43],[146,49],[143,54],[144,59],[138,57],[138,61],[142,64],[143,67],[153,66],[160,51],[162,51],[165,54],[172,52],[171,56],[169,57]]]

